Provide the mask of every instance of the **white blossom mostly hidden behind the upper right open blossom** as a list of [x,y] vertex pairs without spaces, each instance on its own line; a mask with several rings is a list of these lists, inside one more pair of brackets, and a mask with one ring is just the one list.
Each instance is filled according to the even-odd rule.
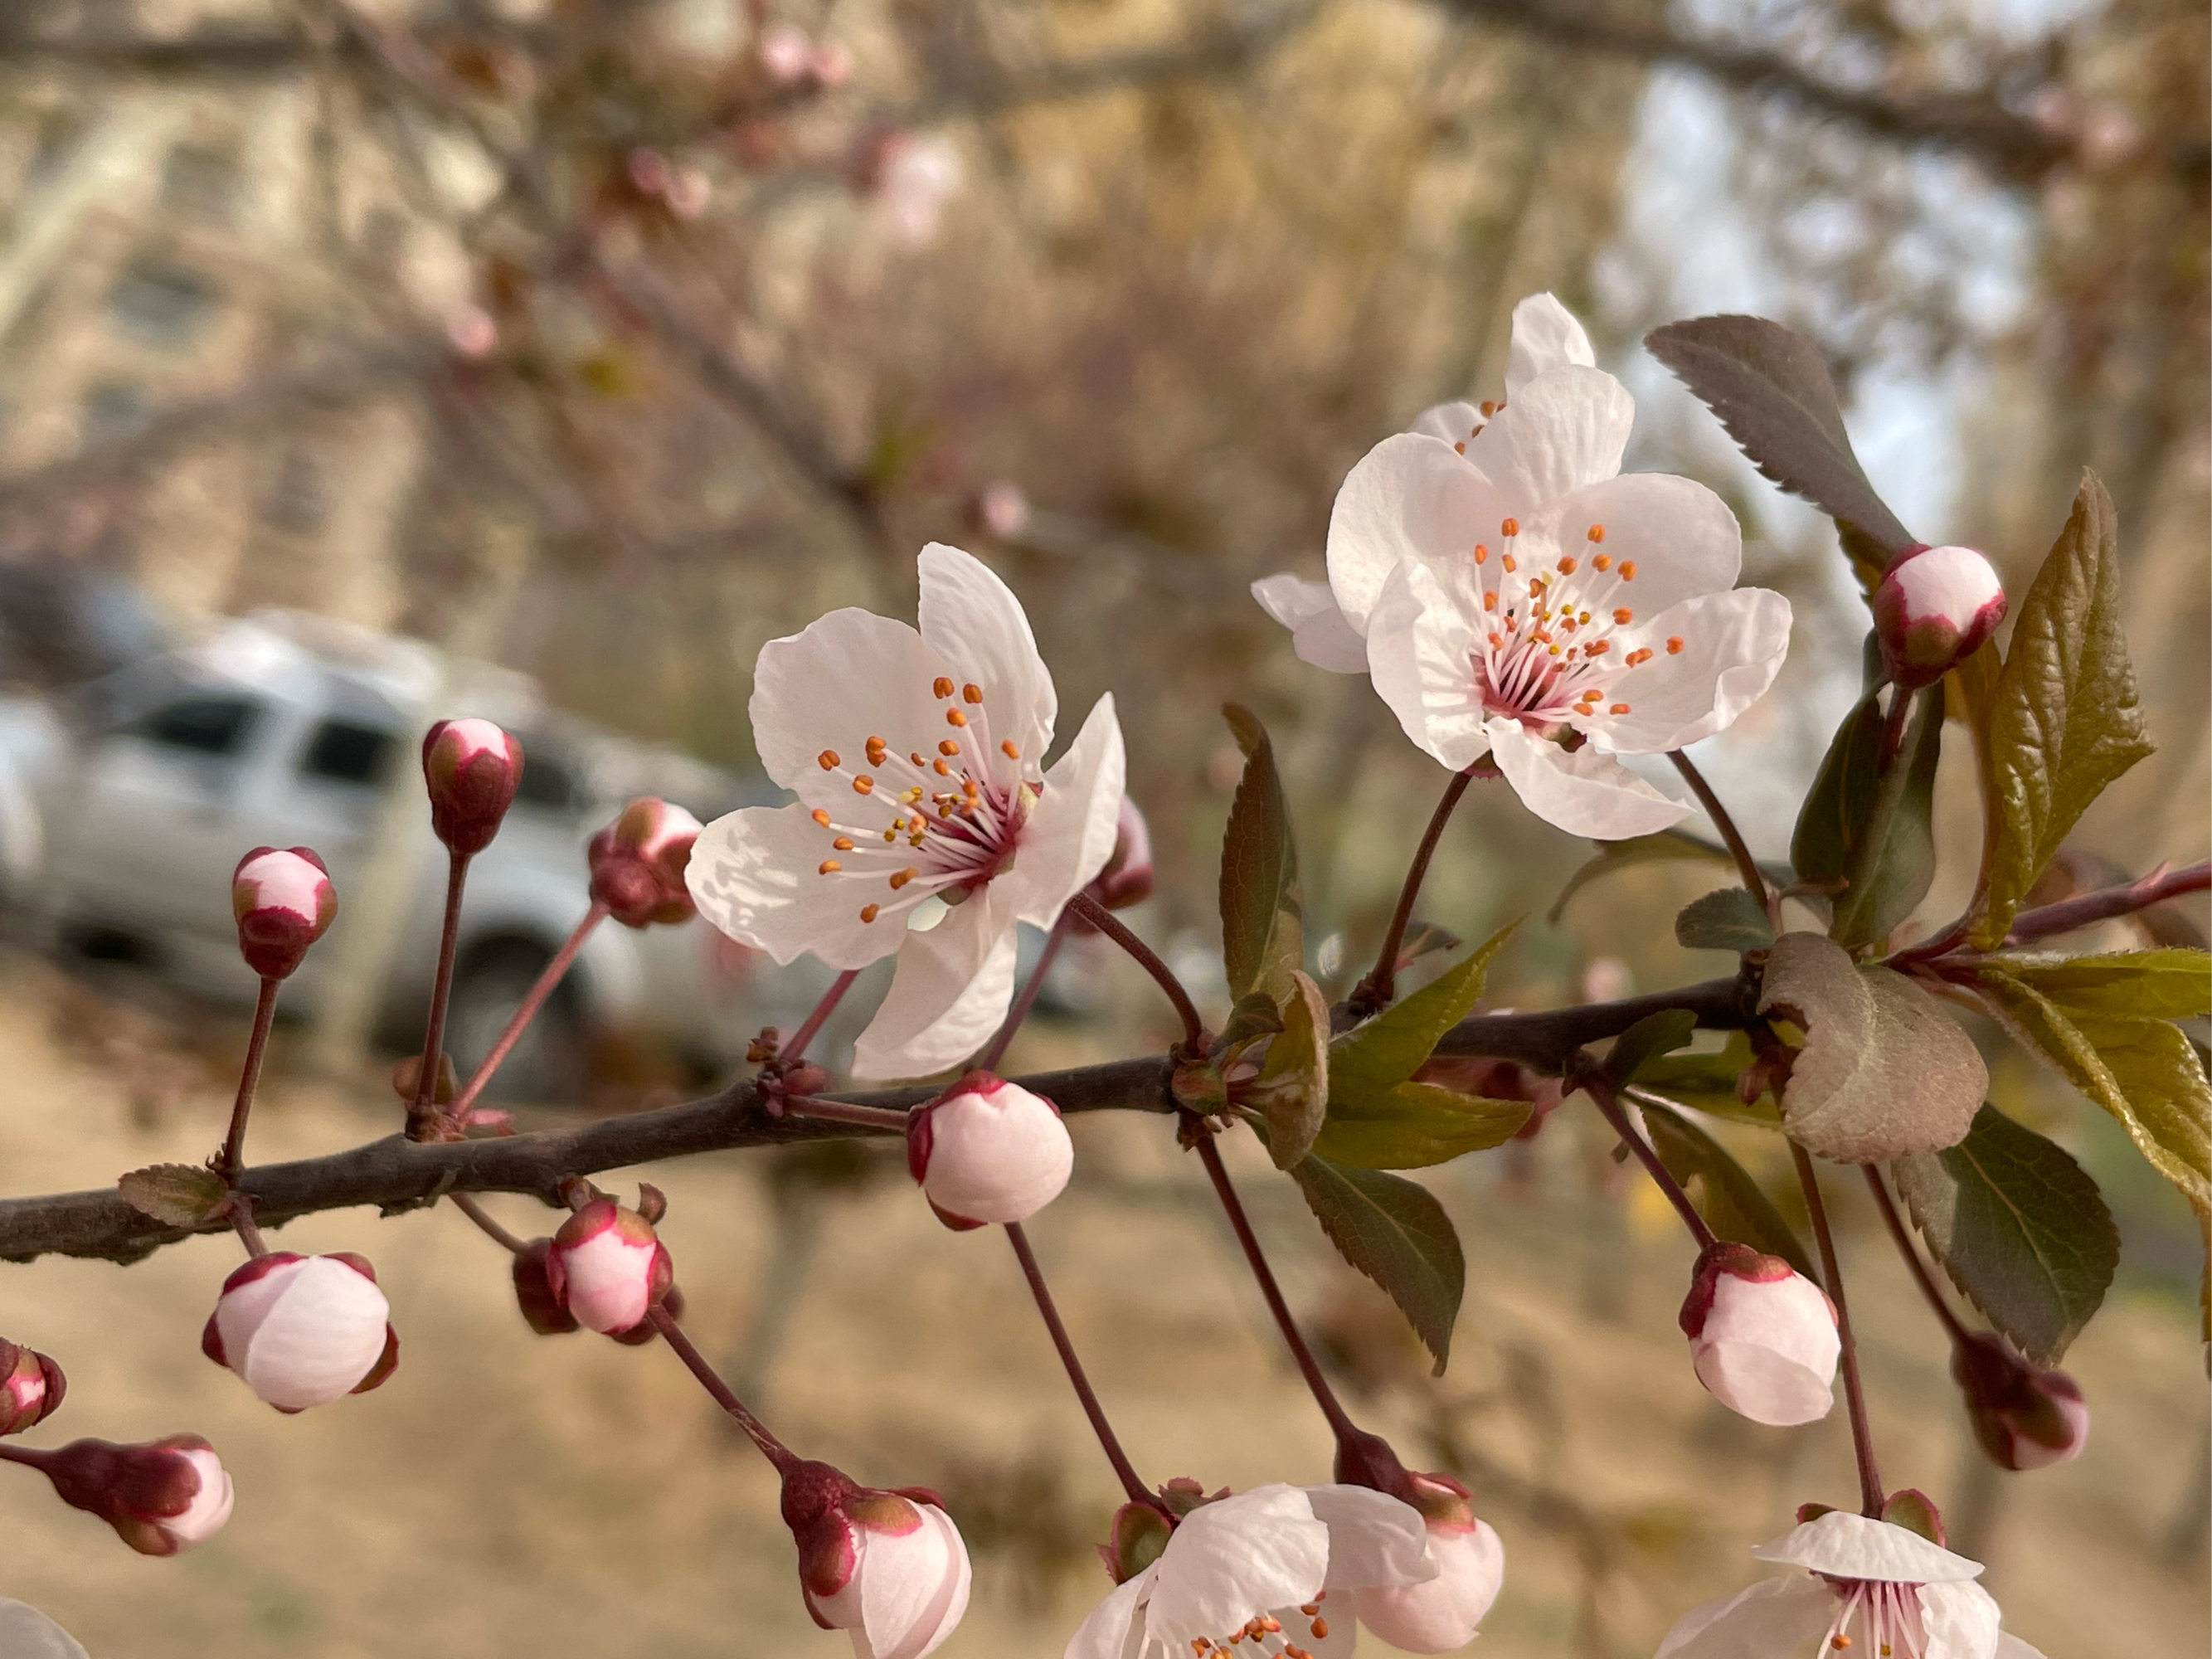
[[[1531,294],[1513,307],[1513,343],[1506,349],[1506,400],[1540,374],[1562,367],[1595,367],[1597,354],[1582,323],[1551,294]],[[1438,403],[1422,409],[1407,436],[1436,438],[1455,453],[1482,460],[1482,429],[1506,407],[1504,403]],[[1358,476],[1354,471],[1354,476]],[[1367,672],[1367,613],[1383,591],[1387,571],[1376,571],[1367,538],[1360,533],[1363,502],[1349,493],[1336,498],[1329,515],[1329,580],[1307,582],[1281,573],[1252,584],[1261,608],[1292,633],[1292,650],[1316,668],[1338,675]],[[1343,522],[1343,538],[1338,535]],[[1340,591],[1334,591],[1338,580]]]

